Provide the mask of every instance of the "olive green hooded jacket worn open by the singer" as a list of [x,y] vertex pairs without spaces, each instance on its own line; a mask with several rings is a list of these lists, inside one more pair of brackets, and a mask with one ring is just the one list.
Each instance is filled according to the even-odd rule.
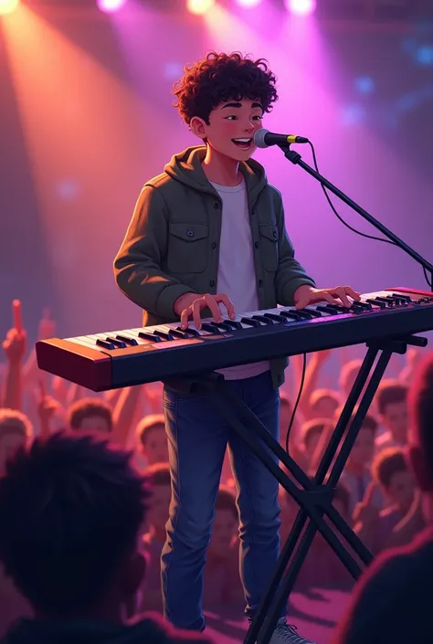
[[[143,309],[143,326],[176,321],[174,302],[185,293],[216,293],[222,202],[203,172],[205,154],[203,146],[175,154],[164,173],[143,186],[114,259],[115,280]],[[250,159],[239,169],[247,185],[259,309],[292,305],[298,287],[315,284],[294,259],[280,192],[258,162]],[[275,387],[284,382],[286,365],[286,358],[271,362]]]

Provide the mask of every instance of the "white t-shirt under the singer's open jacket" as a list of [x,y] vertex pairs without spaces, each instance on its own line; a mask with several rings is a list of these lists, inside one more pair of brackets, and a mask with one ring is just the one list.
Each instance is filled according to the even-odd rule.
[[[227,295],[237,314],[258,311],[259,296],[245,179],[242,177],[240,184],[234,186],[212,185],[223,202],[216,290]],[[221,306],[221,310],[227,315],[224,306]],[[261,362],[217,371],[227,380],[241,380],[268,370],[269,362]]]

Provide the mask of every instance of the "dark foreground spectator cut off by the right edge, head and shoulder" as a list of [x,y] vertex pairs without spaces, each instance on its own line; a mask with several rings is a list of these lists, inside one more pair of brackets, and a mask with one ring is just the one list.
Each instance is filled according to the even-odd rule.
[[[377,557],[361,578],[333,644],[433,642],[433,355],[409,389],[408,459],[422,492],[429,528],[415,541]],[[415,511],[416,512],[416,511]]]

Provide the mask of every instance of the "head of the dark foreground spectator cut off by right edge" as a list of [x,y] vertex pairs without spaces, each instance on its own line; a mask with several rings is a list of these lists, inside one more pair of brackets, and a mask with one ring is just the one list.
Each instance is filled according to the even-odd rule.
[[408,392],[410,436],[408,456],[423,492],[423,510],[433,523],[433,354],[418,366]]

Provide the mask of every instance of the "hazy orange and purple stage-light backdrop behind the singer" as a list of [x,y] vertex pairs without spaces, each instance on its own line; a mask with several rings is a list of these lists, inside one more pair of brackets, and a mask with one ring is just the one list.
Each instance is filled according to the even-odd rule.
[[[198,143],[172,87],[211,49],[267,58],[264,126],[309,137],[322,174],[433,261],[433,0],[0,0],[2,337],[14,298],[30,341],[45,307],[59,337],[140,323],[112,260],[143,183]],[[427,287],[278,148],[255,156],[319,285]]]

